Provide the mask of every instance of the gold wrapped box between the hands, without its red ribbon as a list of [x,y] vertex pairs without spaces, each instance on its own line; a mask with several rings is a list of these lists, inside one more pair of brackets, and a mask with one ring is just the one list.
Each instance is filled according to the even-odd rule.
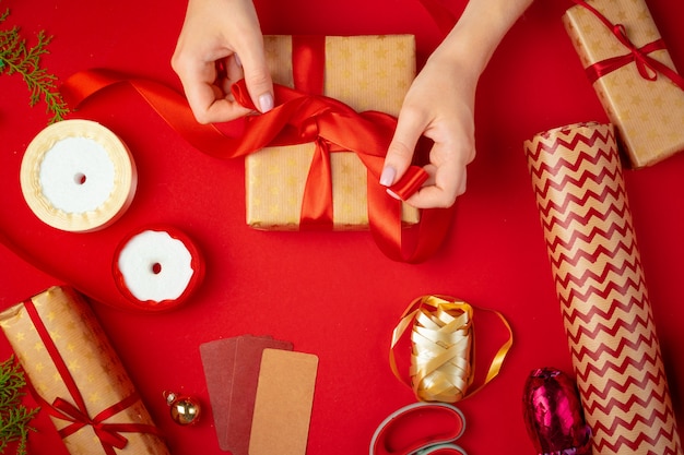
[[[266,36],[273,82],[294,87],[293,37]],[[325,37],[323,95],[356,111],[397,116],[415,76],[412,35]],[[267,147],[246,158],[247,224],[252,228],[297,230],[315,144]],[[367,171],[352,152],[330,154],[333,229],[368,228]],[[418,221],[418,211],[403,204],[402,221]]]

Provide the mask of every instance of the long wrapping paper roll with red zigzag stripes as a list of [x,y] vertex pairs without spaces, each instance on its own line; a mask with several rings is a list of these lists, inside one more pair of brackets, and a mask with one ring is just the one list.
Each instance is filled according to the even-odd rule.
[[681,454],[613,127],[524,143],[594,454]]

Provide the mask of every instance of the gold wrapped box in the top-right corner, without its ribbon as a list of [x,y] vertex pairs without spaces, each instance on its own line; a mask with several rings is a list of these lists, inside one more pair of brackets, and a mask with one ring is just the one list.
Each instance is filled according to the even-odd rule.
[[[611,24],[622,24],[628,39],[641,48],[661,38],[644,0],[587,2]],[[630,55],[595,14],[582,5],[575,5],[563,17],[566,31],[585,69],[597,62]],[[675,71],[667,49],[648,57]],[[648,70],[651,76],[656,74]],[[623,152],[633,168],[661,161],[684,149],[684,89],[664,74],[654,81],[645,79],[634,60],[599,77],[593,87],[611,122],[615,124]]]

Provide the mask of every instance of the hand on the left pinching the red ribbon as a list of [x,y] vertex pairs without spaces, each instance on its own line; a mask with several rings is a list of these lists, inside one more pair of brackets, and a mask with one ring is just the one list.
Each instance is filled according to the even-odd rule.
[[273,81],[251,0],[189,0],[172,68],[200,123],[250,113],[231,95],[240,79],[261,112],[273,108]]

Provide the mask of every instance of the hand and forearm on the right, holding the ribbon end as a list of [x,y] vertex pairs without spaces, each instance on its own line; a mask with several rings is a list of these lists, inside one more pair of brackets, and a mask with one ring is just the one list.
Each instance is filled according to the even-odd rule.
[[465,191],[465,166],[475,157],[477,81],[530,3],[532,0],[470,0],[409,88],[380,176],[381,184],[396,183],[409,168],[421,135],[432,139],[429,164],[425,166],[429,178],[406,200],[409,204],[448,207]]

